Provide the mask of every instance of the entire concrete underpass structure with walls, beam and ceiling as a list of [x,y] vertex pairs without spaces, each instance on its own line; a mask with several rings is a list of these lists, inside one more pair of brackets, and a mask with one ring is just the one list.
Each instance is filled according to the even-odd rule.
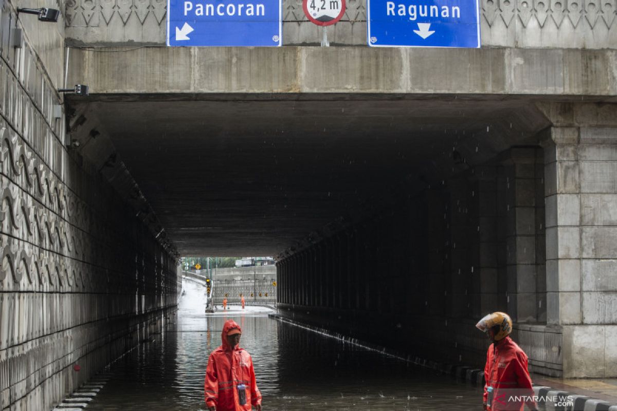
[[617,376],[614,4],[486,0],[445,50],[365,47],[350,3],[336,47],[286,2],[285,47],[169,49],[164,2],[70,1],[21,47],[5,2],[0,409],[173,322],[196,253],[278,256],[284,313],[371,343],[481,364],[499,309],[532,370]]

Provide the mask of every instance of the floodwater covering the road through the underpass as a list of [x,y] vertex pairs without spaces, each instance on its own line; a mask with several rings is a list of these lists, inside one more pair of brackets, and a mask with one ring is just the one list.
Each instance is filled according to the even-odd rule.
[[178,330],[115,362],[88,410],[207,410],[204,373],[223,322],[242,327],[263,410],[481,410],[482,389],[380,352],[268,318],[268,309],[204,314],[203,287],[184,283]]

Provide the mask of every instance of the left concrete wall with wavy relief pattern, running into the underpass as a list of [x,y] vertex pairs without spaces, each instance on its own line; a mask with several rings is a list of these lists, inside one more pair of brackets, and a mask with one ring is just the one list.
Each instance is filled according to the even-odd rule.
[[46,410],[173,322],[176,264],[67,152],[64,28],[22,15],[12,47],[15,6],[0,15],[0,409]]

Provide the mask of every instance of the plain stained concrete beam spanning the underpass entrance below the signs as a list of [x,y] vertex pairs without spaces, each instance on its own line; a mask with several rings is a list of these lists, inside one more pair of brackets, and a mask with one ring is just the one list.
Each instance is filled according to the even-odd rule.
[[[363,47],[72,49],[93,94],[402,93],[615,100],[617,51]],[[594,76],[584,75],[593,63]],[[267,73],[267,75],[265,75]]]

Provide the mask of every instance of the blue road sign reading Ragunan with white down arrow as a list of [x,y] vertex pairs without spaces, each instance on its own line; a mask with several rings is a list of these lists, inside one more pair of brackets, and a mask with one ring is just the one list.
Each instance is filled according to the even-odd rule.
[[478,0],[367,0],[373,47],[480,47]]

